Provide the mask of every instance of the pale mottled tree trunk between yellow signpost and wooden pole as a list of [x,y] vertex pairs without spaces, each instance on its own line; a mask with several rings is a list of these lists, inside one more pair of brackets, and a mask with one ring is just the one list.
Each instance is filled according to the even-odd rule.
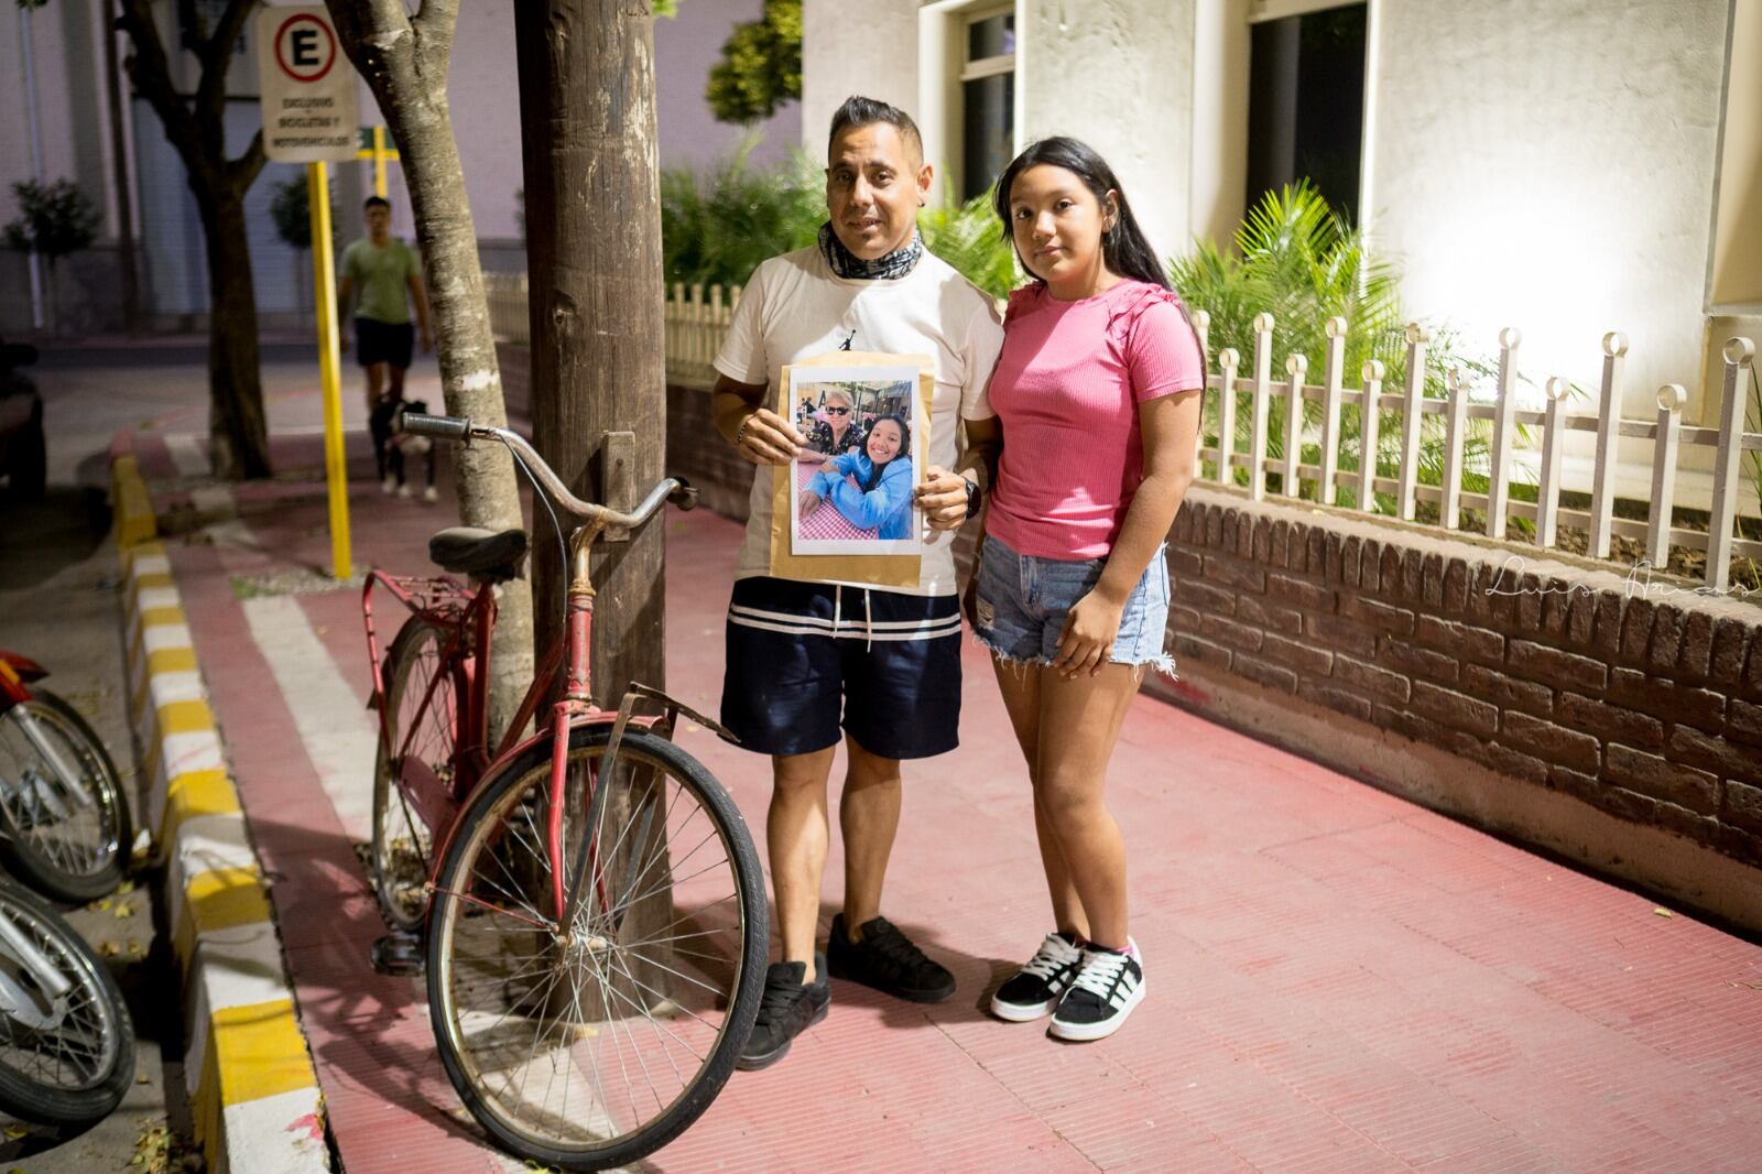
[[[366,79],[398,145],[403,182],[423,252],[440,391],[446,411],[506,427],[502,375],[478,263],[478,229],[453,139],[446,78],[455,2],[428,0],[414,18],[398,0],[328,0],[344,51]],[[458,508],[465,525],[520,529],[520,494],[507,451],[495,444],[455,450]],[[546,543],[536,543],[543,548]],[[532,594],[525,580],[502,587],[490,663],[490,742],[513,719],[532,682]]]

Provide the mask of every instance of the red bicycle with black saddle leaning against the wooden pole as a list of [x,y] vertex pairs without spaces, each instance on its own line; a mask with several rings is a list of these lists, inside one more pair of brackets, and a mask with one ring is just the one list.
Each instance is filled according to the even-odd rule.
[[[641,527],[666,501],[691,508],[696,494],[666,479],[618,513],[569,494],[515,432],[423,414],[403,427],[506,444],[536,501],[580,525],[567,538],[564,640],[493,751],[493,585],[518,573],[525,531],[455,527],[430,539],[430,557],[470,587],[368,576],[361,612],[381,728],[374,887],[395,931],[426,938],[405,955],[426,970],[440,1061],[472,1116],[550,1165],[634,1162],[685,1130],[728,1081],[770,941],[745,820],[671,740],[680,714],[726,732],[640,684],[615,709],[592,696],[594,543]],[[384,658],[375,587],[409,612]],[[525,737],[559,666],[564,698]]]

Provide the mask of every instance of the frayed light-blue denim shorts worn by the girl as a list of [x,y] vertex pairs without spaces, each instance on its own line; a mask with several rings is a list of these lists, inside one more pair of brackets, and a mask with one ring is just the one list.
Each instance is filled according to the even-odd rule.
[[[1163,650],[1168,631],[1168,562],[1156,548],[1151,566],[1126,599],[1114,638],[1114,665],[1152,665],[1173,672]],[[1050,665],[1059,654],[1064,617],[1101,580],[1107,559],[1041,559],[1017,554],[996,538],[985,539],[974,635],[1006,661]]]

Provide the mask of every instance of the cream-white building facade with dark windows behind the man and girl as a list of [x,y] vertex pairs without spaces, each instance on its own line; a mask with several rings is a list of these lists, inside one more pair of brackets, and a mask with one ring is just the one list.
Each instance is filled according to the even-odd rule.
[[1519,326],[1536,386],[1595,386],[1625,331],[1632,416],[1683,383],[1709,420],[1709,353],[1762,335],[1758,0],[805,0],[803,25],[803,143],[846,93],[899,102],[948,196],[1075,134],[1177,254],[1311,176],[1411,316],[1487,353]]

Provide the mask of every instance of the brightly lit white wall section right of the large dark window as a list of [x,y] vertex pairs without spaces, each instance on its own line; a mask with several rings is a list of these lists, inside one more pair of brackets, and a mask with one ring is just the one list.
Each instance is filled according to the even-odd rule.
[[[1700,368],[1729,0],[1373,0],[1366,217],[1410,314],[1596,386],[1630,338],[1626,412]],[[1693,414],[1692,404],[1690,412]]]

